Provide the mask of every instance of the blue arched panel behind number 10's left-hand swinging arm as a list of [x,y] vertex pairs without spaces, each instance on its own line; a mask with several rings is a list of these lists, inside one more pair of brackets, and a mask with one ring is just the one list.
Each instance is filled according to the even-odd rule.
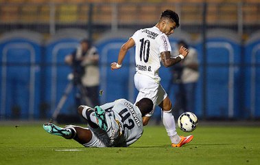
[[121,69],[114,71],[110,69],[110,63],[117,61],[121,45],[128,41],[133,33],[128,30],[106,32],[96,43],[100,57],[100,90],[103,91],[100,96],[101,104],[119,98],[135,101],[137,90],[134,88],[134,49],[126,54]]

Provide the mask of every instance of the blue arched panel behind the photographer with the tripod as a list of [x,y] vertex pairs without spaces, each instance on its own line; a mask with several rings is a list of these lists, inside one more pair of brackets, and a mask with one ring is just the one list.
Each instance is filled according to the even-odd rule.
[[[71,83],[68,75],[72,69],[64,63],[64,57],[71,54],[76,47],[80,45],[80,41],[87,38],[85,30],[80,29],[64,29],[56,32],[54,36],[45,44],[44,60],[45,66],[45,86],[43,91],[45,94],[45,102],[49,109],[47,116],[51,116],[56,110],[60,99],[62,98],[67,85]],[[77,112],[75,109],[75,92],[73,88],[67,100],[64,102],[60,113],[73,114]]]

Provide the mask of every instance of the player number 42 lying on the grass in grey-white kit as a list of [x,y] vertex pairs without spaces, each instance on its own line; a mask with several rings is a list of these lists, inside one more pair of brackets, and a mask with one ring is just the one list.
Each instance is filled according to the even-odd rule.
[[96,106],[95,109],[81,105],[78,113],[87,120],[88,128],[74,125],[62,128],[45,123],[43,129],[51,135],[73,139],[86,147],[129,146],[143,134],[142,117],[153,107],[149,98],[142,98],[136,104],[119,99]]

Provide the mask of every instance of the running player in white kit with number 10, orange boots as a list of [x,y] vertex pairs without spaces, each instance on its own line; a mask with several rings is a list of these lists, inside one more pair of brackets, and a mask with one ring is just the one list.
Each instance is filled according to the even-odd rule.
[[[169,44],[168,36],[173,34],[178,26],[178,14],[172,10],[165,10],[154,27],[137,30],[122,45],[117,63],[111,63],[112,70],[121,68],[126,53],[135,45],[137,72],[134,75],[134,85],[139,91],[136,102],[141,98],[150,98],[154,102],[154,106],[158,105],[161,107],[163,124],[173,147],[180,147],[193,139],[193,135],[182,137],[177,134],[174,116],[172,115],[172,102],[161,86],[161,78],[158,75],[161,63],[165,67],[170,67],[182,61],[189,53],[186,47],[180,47],[180,55],[171,58],[170,52],[172,52],[172,48]],[[147,124],[152,113],[143,117],[143,125]]]

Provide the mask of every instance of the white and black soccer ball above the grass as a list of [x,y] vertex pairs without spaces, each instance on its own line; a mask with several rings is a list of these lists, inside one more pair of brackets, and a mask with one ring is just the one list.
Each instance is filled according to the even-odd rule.
[[180,130],[185,132],[191,132],[196,129],[198,124],[198,118],[194,113],[185,112],[180,115],[178,118],[178,126]]

